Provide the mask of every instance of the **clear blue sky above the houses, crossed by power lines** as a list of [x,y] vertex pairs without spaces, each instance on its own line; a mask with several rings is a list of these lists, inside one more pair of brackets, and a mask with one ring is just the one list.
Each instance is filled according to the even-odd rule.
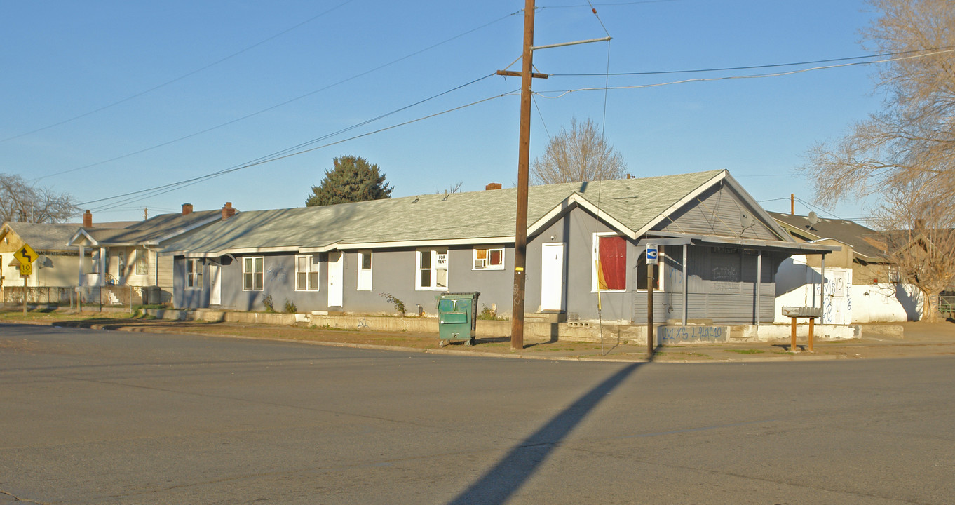
[[[729,169],[768,210],[812,202],[795,169],[815,142],[876,112],[873,65],[636,87],[832,65],[610,76],[864,56],[873,18],[856,0],[539,0],[531,157],[571,118],[593,119],[636,177]],[[302,206],[331,167],[377,163],[394,197],[517,182],[520,0],[0,3],[0,173],[72,193],[95,221],[180,204]],[[603,26],[602,23],[603,22]],[[605,32],[606,31],[606,32]],[[857,60],[859,61],[859,60]],[[520,62],[512,70],[520,71]],[[481,80],[481,77],[486,77]],[[105,200],[305,149],[145,200]],[[567,90],[631,87],[609,91]],[[488,99],[491,98],[491,99]],[[432,116],[371,133],[399,123]],[[365,135],[371,134],[371,135]],[[350,137],[362,136],[349,139]],[[344,140],[344,141],[343,141]],[[302,149],[298,149],[299,151]],[[172,188],[171,188],[172,189]],[[665,189],[665,188],[664,188]],[[137,195],[140,196],[140,195]],[[796,213],[811,207],[796,204]],[[862,202],[832,214],[865,217]]]

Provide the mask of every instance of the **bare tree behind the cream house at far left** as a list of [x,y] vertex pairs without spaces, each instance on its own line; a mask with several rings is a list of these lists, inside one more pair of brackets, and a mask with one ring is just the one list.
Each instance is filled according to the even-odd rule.
[[69,193],[54,193],[20,176],[0,174],[0,221],[64,222],[78,212]]

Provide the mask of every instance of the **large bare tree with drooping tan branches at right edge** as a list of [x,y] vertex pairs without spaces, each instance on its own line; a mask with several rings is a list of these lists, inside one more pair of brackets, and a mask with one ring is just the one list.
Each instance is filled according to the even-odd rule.
[[877,74],[883,107],[847,136],[814,146],[802,170],[822,204],[879,197],[870,210],[884,231],[883,254],[923,292],[934,320],[932,301],[955,276],[955,2],[868,3],[881,16],[863,46],[894,54]]

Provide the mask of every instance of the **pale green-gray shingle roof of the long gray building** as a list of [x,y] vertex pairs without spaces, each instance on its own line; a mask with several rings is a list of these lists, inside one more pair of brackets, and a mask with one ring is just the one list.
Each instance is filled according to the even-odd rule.
[[[779,243],[799,245],[725,170],[532,186],[528,236],[575,207],[583,207],[622,235],[638,238],[668,213],[717,183],[734,186]],[[513,243],[517,189],[419,195],[321,207],[245,211],[165,244],[165,254],[215,257],[269,251],[323,252],[380,247]]]

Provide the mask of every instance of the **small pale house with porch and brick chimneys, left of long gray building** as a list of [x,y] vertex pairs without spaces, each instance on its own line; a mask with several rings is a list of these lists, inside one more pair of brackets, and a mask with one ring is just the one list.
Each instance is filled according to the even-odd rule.
[[126,227],[95,227],[90,211],[69,244],[90,260],[74,270],[74,285],[83,287],[87,302],[105,305],[159,304],[172,301],[172,258],[159,256],[163,244],[235,215],[226,202],[222,210],[193,212],[189,203],[180,214],[160,214]]

